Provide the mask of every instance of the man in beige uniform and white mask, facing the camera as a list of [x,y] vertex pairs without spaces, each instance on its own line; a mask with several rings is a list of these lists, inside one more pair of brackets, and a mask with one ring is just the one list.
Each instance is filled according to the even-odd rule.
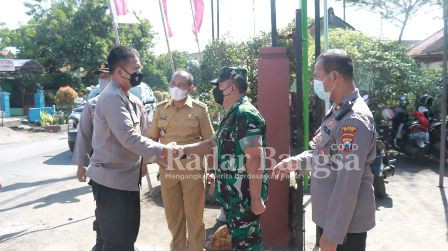
[[[177,71],[173,74],[171,99],[162,102],[154,114],[149,133],[153,140],[160,140],[163,144],[176,142],[185,145],[212,136],[207,106],[189,96],[193,89],[190,73]],[[205,244],[204,160],[183,158],[161,167],[160,182],[166,220],[172,235],[171,250],[202,250]]]

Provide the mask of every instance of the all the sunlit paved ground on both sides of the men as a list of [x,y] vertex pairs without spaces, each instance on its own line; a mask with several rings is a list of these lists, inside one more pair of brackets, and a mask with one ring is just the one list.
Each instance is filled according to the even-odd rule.
[[[63,133],[0,143],[0,250],[90,250],[94,202],[90,187],[75,179],[70,159]],[[157,191],[154,174],[152,181]],[[448,189],[437,182],[437,162],[400,157],[386,185],[389,197],[377,201],[377,226],[369,232],[367,250],[448,250]],[[137,246],[168,250],[162,201],[148,200],[146,183],[143,187]],[[311,206],[306,208],[306,250],[312,250],[315,238]],[[208,229],[217,213],[206,209]]]

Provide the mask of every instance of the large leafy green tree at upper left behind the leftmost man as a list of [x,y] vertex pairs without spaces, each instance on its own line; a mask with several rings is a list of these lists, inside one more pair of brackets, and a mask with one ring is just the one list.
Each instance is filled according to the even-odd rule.
[[[108,0],[31,0],[28,7],[30,21],[16,30],[5,32],[0,27],[0,48],[14,46],[18,57],[32,58],[41,63],[45,75],[72,74],[85,71],[85,81],[96,77],[93,71],[106,61],[114,46]],[[120,24],[122,44],[137,49],[140,59],[147,62],[151,56],[154,32],[147,20],[137,24]],[[6,36],[3,34],[6,33]],[[155,74],[157,75],[157,74]],[[45,76],[42,80],[51,79]],[[68,78],[66,78],[68,79]],[[41,82],[44,87],[58,89],[62,85],[79,88],[79,79],[69,83]]]

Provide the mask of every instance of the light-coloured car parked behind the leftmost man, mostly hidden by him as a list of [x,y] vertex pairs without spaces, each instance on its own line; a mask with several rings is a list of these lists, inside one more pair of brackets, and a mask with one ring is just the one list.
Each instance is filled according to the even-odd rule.
[[[71,152],[73,152],[73,150],[75,149],[76,135],[78,134],[78,124],[81,120],[81,113],[84,109],[85,103],[87,102],[87,100],[98,96],[100,92],[100,86],[97,85],[91,92],[86,95],[85,100],[82,98],[75,100],[75,103],[78,105],[78,107],[73,109],[67,118],[68,146]],[[148,114],[148,119],[151,122],[157,105],[156,97],[154,96],[154,92],[152,91],[152,89],[147,84],[142,82],[140,85],[132,87],[130,92],[137,96],[143,102],[143,104],[145,105],[146,113]]]

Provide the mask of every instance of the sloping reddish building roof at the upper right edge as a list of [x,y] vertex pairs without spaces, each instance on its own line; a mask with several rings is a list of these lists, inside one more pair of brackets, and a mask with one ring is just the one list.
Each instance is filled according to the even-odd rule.
[[408,55],[414,58],[441,56],[443,54],[443,28],[414,45]]

